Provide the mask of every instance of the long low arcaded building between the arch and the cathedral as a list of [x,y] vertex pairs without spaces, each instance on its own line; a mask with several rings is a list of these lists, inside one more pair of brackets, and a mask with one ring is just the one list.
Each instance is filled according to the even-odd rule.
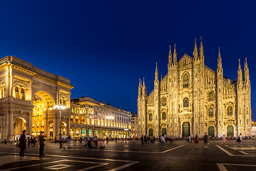
[[131,113],[93,98],[71,100],[71,136],[99,138],[130,137]]

